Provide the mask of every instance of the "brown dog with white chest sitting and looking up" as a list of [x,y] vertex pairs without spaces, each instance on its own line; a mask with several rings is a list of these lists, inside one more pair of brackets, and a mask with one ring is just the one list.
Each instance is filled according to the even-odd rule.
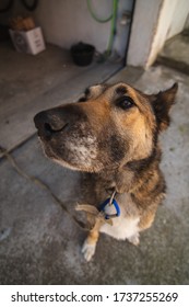
[[[158,134],[169,125],[177,83],[146,95],[126,83],[88,88],[80,102],[38,113],[34,121],[46,155],[84,172],[92,229],[83,246],[95,252],[99,232],[139,243],[165,196]],[[103,203],[103,205],[101,205]]]

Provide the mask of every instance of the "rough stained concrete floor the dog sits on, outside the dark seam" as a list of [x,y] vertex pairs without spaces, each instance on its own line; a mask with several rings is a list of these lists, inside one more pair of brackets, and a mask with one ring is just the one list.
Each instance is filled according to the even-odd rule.
[[[102,235],[94,259],[86,263],[81,254],[85,232],[48,191],[24,179],[3,158],[0,284],[189,284],[189,77],[157,66],[145,72],[127,68],[109,81],[120,80],[146,92],[179,83],[173,123],[162,136],[168,194],[154,225],[141,235],[139,247]],[[57,104],[56,93],[50,98]],[[36,135],[12,156],[24,172],[48,184],[74,213],[80,173],[46,159]]]

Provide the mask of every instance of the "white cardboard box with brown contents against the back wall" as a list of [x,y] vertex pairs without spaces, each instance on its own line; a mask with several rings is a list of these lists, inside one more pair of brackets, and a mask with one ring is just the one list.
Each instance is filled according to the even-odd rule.
[[10,35],[19,53],[36,55],[45,50],[45,42],[39,26],[29,31],[10,30]]

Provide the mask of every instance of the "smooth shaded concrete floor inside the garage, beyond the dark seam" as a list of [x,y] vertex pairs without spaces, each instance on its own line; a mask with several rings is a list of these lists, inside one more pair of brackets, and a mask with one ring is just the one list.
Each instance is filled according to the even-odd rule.
[[[15,148],[35,133],[34,115],[73,101],[92,83],[102,82],[121,68],[121,62],[94,61],[75,66],[68,50],[54,45],[36,56],[16,53],[11,42],[0,45],[1,146]],[[16,132],[12,134],[12,130]]]

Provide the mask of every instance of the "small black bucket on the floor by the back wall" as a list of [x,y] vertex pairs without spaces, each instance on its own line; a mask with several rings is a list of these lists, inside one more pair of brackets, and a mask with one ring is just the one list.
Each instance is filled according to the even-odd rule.
[[95,47],[90,44],[79,43],[71,47],[71,55],[74,64],[87,66],[92,62]]

